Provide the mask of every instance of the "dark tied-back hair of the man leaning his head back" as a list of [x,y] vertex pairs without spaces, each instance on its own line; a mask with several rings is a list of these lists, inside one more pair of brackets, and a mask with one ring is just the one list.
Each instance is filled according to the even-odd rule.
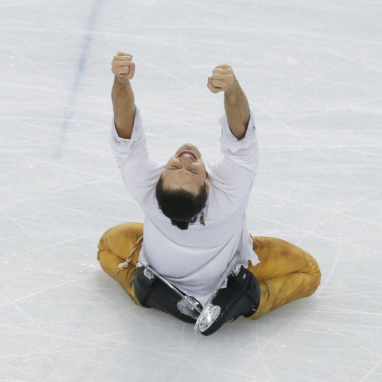
[[206,182],[200,187],[199,194],[194,196],[183,188],[163,189],[163,178],[160,178],[155,188],[155,196],[158,208],[171,219],[171,224],[181,230],[186,230],[189,224],[195,223],[197,214],[206,204]]

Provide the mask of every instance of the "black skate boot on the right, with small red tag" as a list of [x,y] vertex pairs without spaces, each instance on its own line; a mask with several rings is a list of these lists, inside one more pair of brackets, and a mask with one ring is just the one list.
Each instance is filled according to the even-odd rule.
[[200,323],[200,331],[203,335],[210,335],[228,320],[234,321],[239,316],[251,317],[259,303],[260,288],[256,277],[241,266],[238,274],[227,277],[227,288],[220,289],[212,300],[209,314]]

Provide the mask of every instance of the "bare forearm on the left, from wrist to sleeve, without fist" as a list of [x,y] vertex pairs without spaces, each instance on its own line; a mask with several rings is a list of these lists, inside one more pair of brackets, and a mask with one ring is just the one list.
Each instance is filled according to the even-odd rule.
[[117,133],[121,138],[131,138],[135,117],[134,93],[130,81],[114,77],[112,89],[114,121]]

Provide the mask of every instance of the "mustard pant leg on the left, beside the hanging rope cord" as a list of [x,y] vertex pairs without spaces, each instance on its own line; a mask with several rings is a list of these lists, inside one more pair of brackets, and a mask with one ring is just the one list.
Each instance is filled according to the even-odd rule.
[[142,243],[139,243],[134,251],[131,262],[127,268],[120,270],[118,265],[125,262],[130,256],[137,240],[143,234],[143,224],[136,222],[122,223],[107,230],[98,244],[97,259],[102,269],[111,277],[117,280],[122,288],[133,299],[134,303],[139,304],[134,293],[134,275],[136,264]]

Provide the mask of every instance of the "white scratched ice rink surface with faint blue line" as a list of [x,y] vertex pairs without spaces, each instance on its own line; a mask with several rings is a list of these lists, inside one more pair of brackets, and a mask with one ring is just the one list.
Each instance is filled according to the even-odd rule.
[[[0,4],[0,381],[380,382],[382,4]],[[108,145],[110,62],[134,55],[149,150],[220,157],[228,63],[256,115],[247,222],[319,262],[308,298],[210,337],[134,305],[96,259],[142,221]]]

